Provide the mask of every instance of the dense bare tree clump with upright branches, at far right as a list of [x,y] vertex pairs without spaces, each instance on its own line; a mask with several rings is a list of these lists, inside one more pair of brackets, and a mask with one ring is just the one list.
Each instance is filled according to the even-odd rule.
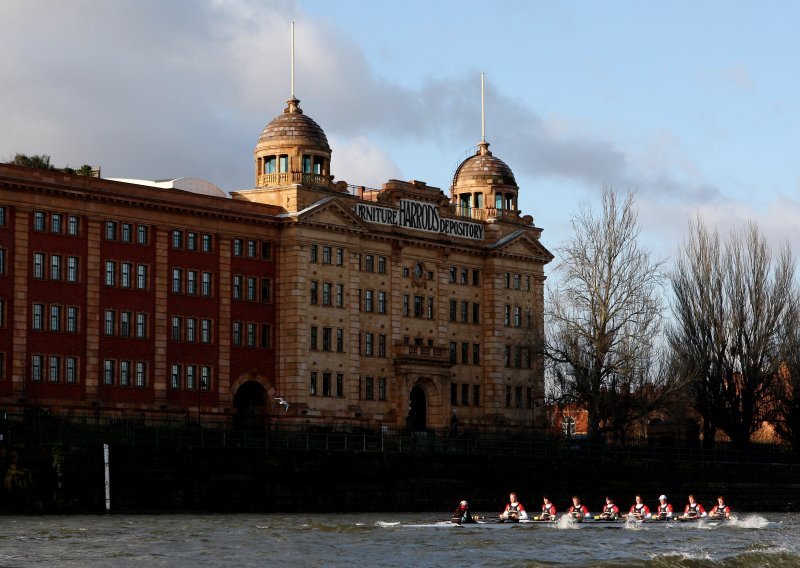
[[732,231],[724,246],[698,219],[671,276],[674,325],[668,333],[678,369],[691,381],[704,444],[717,429],[736,447],[775,409],[772,394],[789,355],[795,313],[794,261],[788,245],[773,262],[758,227]]

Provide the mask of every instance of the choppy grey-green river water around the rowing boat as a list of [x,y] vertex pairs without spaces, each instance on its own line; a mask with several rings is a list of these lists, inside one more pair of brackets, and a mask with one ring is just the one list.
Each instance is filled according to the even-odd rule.
[[441,514],[0,516],[0,566],[797,567],[800,515],[471,525]]

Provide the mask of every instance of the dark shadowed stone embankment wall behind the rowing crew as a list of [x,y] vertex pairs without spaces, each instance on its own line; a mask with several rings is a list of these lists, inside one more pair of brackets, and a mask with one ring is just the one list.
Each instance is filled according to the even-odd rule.
[[[800,466],[612,462],[413,453],[111,447],[112,511],[344,512],[452,510],[461,499],[497,514],[516,491],[530,510],[547,494],[563,511],[574,494],[591,510],[606,495],[627,508],[640,493],[724,494],[738,511],[800,510]],[[0,510],[103,512],[102,447],[0,447]]]

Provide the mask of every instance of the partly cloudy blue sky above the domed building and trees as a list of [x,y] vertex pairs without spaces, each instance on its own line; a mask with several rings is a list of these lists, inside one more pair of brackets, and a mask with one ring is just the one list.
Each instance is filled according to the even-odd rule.
[[253,187],[295,95],[337,180],[449,195],[486,139],[555,250],[604,186],[674,258],[696,216],[800,254],[800,3],[789,0],[3,0],[0,161]]

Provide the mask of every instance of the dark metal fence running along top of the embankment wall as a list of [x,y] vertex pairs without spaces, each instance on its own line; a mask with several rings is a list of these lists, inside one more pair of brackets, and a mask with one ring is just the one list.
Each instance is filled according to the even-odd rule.
[[250,448],[266,451],[321,451],[373,453],[464,454],[604,459],[620,464],[632,461],[681,464],[800,463],[800,454],[788,446],[657,447],[646,444],[614,445],[587,440],[549,437],[539,433],[506,431],[428,430],[408,432],[388,428],[365,429],[346,424],[284,425],[266,423],[248,428],[231,419],[122,419],[86,415],[64,419],[47,414],[0,414],[0,433],[7,445],[51,444],[84,446],[121,444],[141,447]]

